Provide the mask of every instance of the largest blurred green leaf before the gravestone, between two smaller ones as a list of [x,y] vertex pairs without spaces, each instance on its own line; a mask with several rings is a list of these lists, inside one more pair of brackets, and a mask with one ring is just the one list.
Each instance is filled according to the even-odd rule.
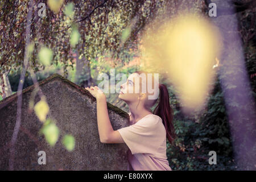
[[59,128],[55,125],[55,123],[47,119],[46,124],[43,126],[42,133],[50,146],[55,146],[57,140],[59,139],[59,132]]

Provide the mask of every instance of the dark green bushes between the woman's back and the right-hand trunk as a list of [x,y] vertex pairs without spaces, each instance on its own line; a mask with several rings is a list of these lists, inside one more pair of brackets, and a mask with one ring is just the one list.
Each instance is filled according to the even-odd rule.
[[[207,109],[196,115],[198,119],[185,117],[174,107],[177,138],[172,145],[167,143],[167,158],[173,170],[236,169],[219,80],[214,84]],[[172,90],[170,93],[173,95]],[[177,102],[176,98],[171,97],[170,102]],[[217,164],[209,164],[209,151],[216,151]]]

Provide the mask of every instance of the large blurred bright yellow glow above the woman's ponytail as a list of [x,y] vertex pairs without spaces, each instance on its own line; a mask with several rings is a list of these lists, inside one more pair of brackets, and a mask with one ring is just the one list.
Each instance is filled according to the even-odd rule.
[[156,31],[146,32],[142,47],[143,69],[168,73],[183,110],[200,110],[220,55],[217,28],[200,16],[179,16]]

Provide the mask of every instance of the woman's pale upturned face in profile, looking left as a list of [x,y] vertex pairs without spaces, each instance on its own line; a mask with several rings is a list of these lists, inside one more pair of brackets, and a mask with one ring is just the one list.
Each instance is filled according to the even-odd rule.
[[128,78],[127,81],[121,85],[118,98],[123,101],[136,102],[139,98],[139,74],[133,73]]

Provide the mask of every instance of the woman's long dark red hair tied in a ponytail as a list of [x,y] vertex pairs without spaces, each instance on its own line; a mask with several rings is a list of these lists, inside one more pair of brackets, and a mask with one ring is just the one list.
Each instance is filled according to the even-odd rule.
[[[147,79],[147,73],[144,71],[137,71],[135,73],[138,73],[139,75],[141,73],[146,74],[146,80]],[[153,75],[153,74],[152,74]],[[152,79],[154,80],[154,79]],[[155,107],[153,113],[155,115],[158,115],[160,118],[162,118],[163,125],[166,129],[166,137],[170,143],[172,143],[176,137],[175,134],[175,129],[174,129],[174,111],[172,110],[172,107],[170,106],[170,101],[169,101],[169,93],[166,85],[164,84],[159,84],[159,103]],[[155,105],[156,101],[158,101],[158,98],[155,100],[148,100],[145,102],[145,107],[152,107]]]

